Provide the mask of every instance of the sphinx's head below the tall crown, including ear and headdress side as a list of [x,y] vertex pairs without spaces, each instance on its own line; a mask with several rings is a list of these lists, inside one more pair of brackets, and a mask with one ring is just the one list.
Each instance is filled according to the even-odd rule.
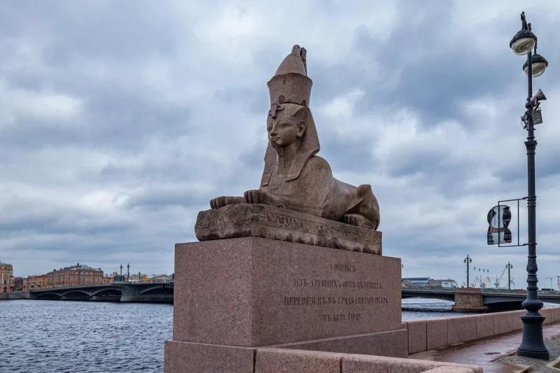
[[301,143],[307,130],[309,115],[307,106],[272,104],[267,117],[269,144],[277,150],[296,142]]

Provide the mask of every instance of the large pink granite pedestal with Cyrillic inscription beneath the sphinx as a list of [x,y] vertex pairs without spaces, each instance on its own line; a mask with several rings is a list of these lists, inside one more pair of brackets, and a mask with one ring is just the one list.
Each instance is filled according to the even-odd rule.
[[175,250],[168,373],[253,372],[262,346],[407,356],[398,258],[258,237]]

